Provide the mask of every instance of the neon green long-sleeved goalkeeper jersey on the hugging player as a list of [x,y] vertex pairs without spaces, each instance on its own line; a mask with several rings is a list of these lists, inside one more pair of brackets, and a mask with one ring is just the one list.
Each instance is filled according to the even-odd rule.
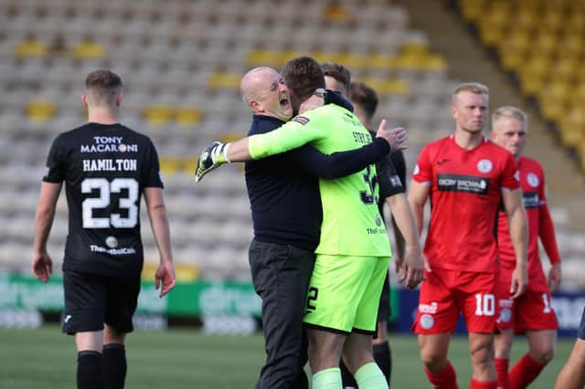
[[[345,152],[372,142],[356,116],[327,104],[296,116],[275,131],[249,138],[252,159],[287,152],[311,143],[325,154]],[[390,257],[386,226],[378,212],[376,166],[335,180],[319,179],[323,222],[315,252],[327,255]]]

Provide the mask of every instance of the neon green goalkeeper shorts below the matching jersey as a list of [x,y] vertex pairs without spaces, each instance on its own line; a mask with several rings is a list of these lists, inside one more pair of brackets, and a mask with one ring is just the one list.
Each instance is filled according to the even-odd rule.
[[326,331],[374,333],[388,274],[386,257],[317,255],[304,322]]

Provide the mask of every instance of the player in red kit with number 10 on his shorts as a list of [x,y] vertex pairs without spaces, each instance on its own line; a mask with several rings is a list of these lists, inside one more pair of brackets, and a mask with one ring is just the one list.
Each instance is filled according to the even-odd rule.
[[412,331],[419,335],[420,358],[435,388],[458,387],[447,351],[460,312],[469,331],[469,387],[496,388],[495,224],[502,203],[517,258],[510,291],[517,297],[527,287],[527,218],[516,161],[482,134],[488,100],[484,85],[459,85],[452,96],[454,133],[425,146],[412,174],[409,199],[420,229],[431,200],[424,248],[428,268]]

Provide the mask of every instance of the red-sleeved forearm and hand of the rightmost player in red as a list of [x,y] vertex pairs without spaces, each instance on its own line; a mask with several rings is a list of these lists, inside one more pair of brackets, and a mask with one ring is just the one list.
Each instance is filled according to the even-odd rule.
[[[544,196],[541,198],[544,199]],[[556,293],[560,287],[560,280],[562,278],[560,254],[558,253],[555,226],[548,211],[546,200],[539,206],[538,211],[538,237],[540,237],[542,246],[547,252],[551,265],[548,271],[548,289],[550,289],[550,293]]]

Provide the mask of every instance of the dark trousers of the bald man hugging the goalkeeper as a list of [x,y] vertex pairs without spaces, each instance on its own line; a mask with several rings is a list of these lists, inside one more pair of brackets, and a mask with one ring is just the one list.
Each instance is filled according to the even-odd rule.
[[266,350],[256,388],[308,388],[303,314],[314,252],[254,239],[249,260],[254,289],[262,300]]

